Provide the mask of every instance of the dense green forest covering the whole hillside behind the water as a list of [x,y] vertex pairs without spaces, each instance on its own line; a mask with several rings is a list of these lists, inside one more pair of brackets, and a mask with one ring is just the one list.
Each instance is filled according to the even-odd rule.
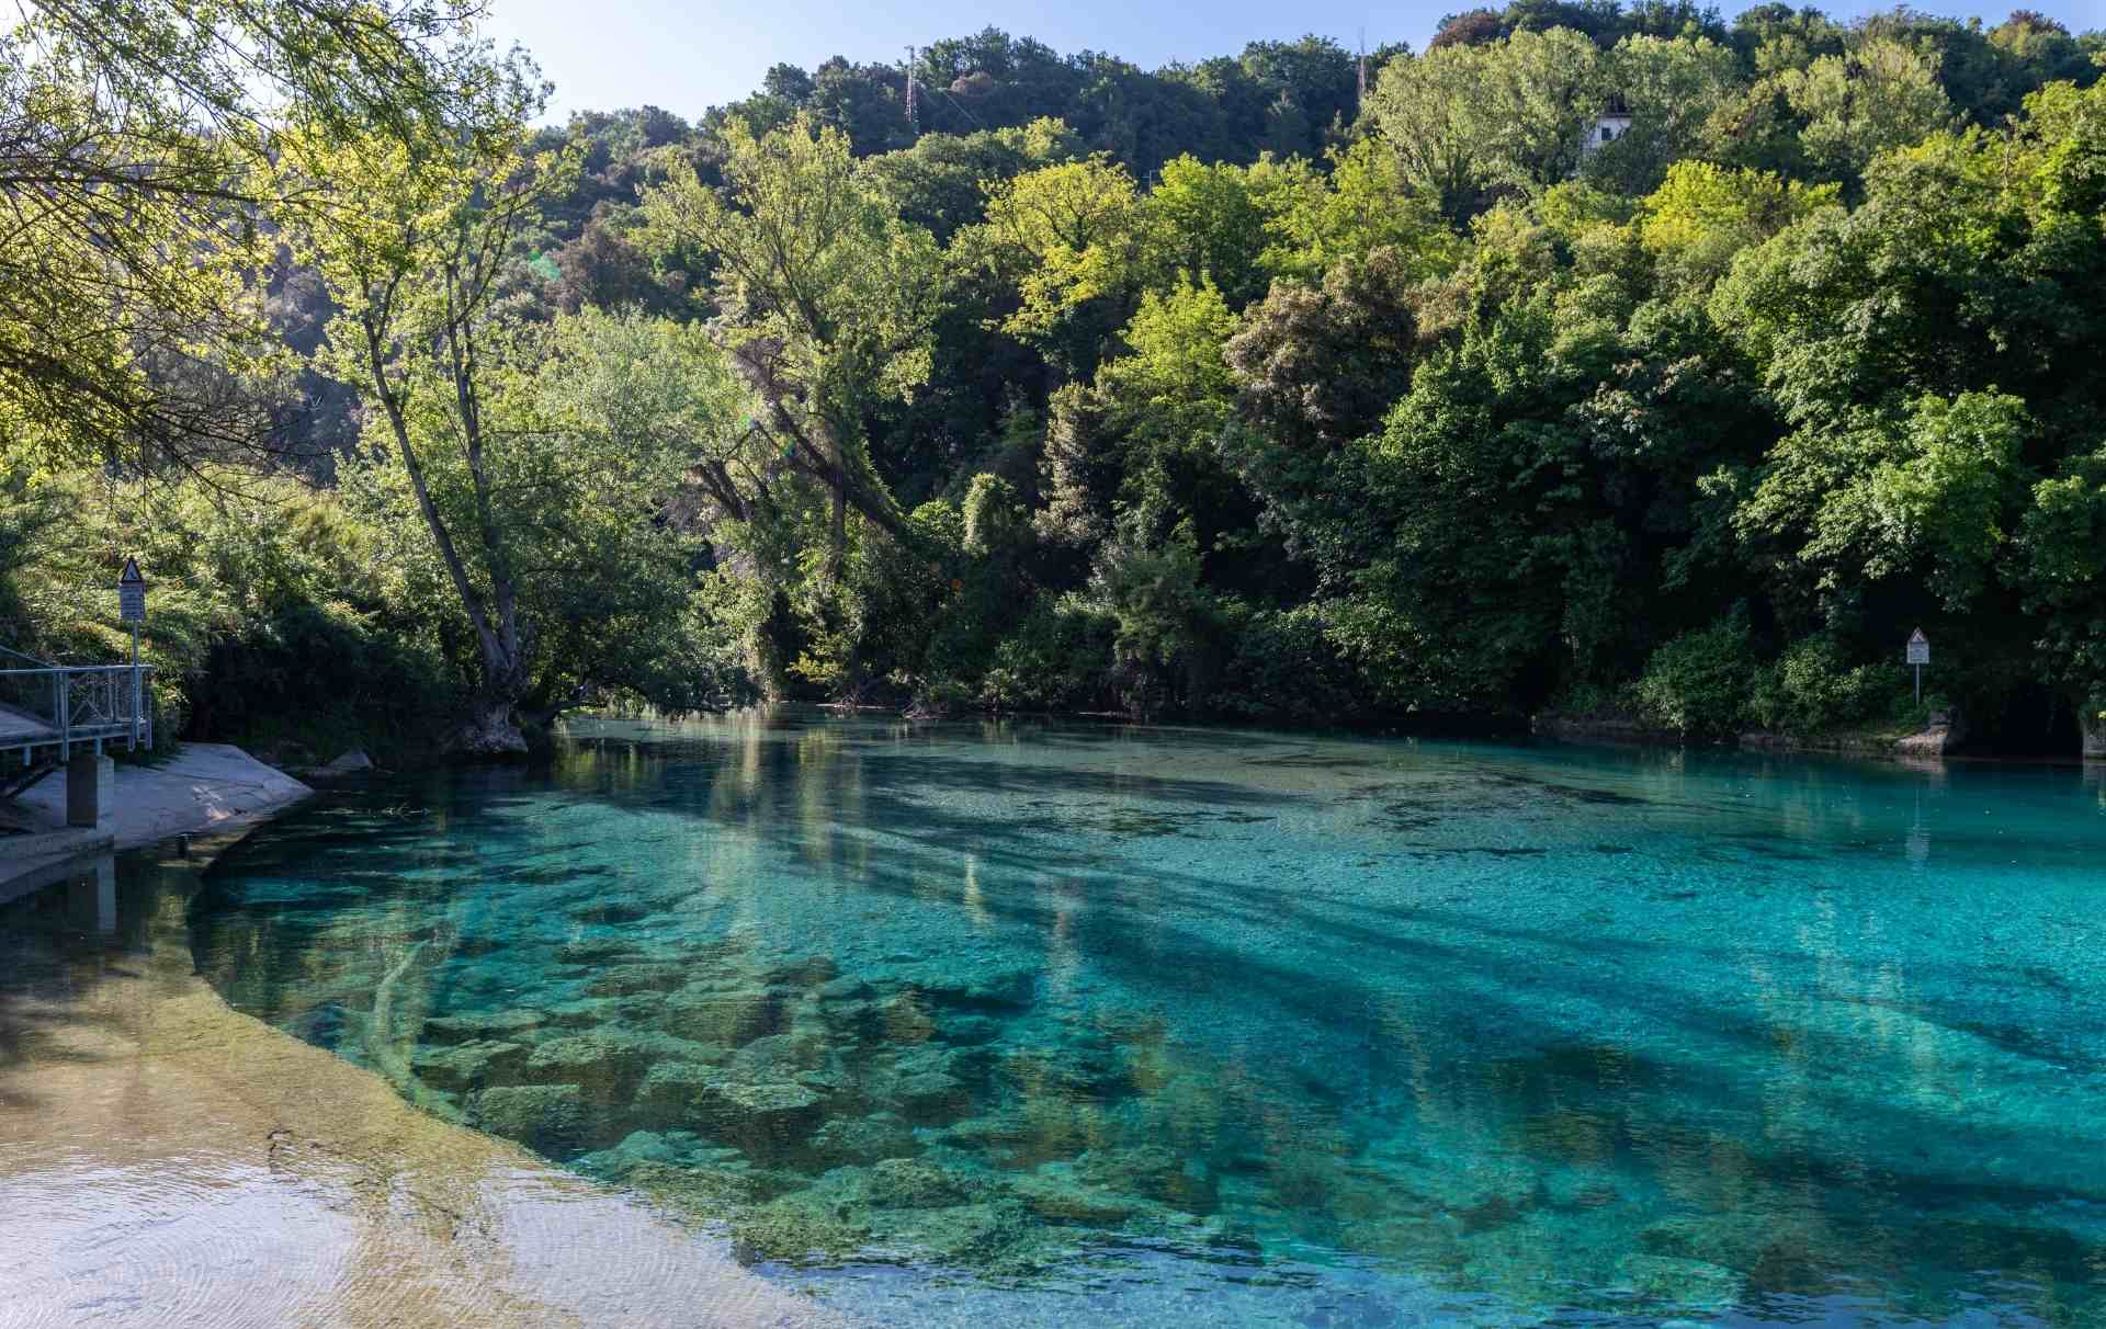
[[834,59],[535,128],[444,4],[34,15],[0,644],[112,651],[139,554],[192,735],[2106,727],[2106,34],[1516,0],[1363,99],[988,29],[912,124]]

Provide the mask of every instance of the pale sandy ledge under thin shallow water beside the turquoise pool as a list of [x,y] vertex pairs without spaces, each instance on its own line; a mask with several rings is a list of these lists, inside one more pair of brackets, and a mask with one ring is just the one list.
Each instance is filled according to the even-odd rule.
[[[211,802],[257,813],[236,805]],[[227,1009],[187,939],[225,842],[0,914],[0,1321],[842,1323],[720,1238]]]

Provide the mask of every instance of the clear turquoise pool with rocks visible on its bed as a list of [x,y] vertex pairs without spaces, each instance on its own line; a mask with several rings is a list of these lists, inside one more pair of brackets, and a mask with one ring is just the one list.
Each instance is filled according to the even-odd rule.
[[609,722],[192,937],[887,1323],[2106,1325],[2098,771]]

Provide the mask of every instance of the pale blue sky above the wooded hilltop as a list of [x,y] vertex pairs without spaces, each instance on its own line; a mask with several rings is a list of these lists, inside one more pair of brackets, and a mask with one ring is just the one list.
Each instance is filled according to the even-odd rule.
[[[1752,2],[1752,0],[1750,0]],[[1794,0],[1803,2],[1803,0]],[[1982,15],[1996,23],[2024,4],[2053,15],[2070,29],[2106,25],[2106,0],[1919,0],[1916,8],[1942,15]],[[520,42],[556,82],[552,118],[573,110],[615,110],[655,103],[680,116],[750,93],[777,61],[811,70],[830,55],[853,61],[897,61],[908,42],[979,32],[986,25],[1034,36],[1055,51],[1110,51],[1144,67],[1173,59],[1232,55],[1249,40],[1293,40],[1304,32],[1352,46],[1360,29],[1367,44],[1426,44],[1441,15],[1470,8],[1470,0],[988,0],[981,4],[908,4],[903,0],[491,0],[486,34],[501,44]],[[1748,8],[1727,0],[1729,17]],[[1822,4],[1828,13],[1885,8],[1860,0]]]

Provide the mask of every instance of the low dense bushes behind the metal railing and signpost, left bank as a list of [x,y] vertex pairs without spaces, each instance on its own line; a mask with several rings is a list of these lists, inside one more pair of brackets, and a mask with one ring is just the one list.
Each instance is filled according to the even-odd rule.
[[143,659],[164,735],[421,748],[455,701],[434,623],[329,491],[208,472],[177,484],[0,487],[0,640],[69,663],[122,659],[116,569],[150,581]]

